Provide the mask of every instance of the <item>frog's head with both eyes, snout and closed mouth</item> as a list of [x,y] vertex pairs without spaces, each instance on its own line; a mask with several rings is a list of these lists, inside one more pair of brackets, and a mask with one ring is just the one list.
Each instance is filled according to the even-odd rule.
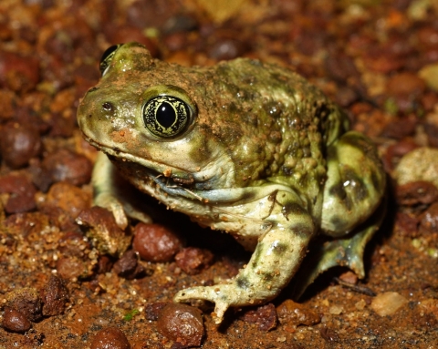
[[234,186],[233,161],[200,122],[199,103],[187,92],[192,70],[153,59],[144,46],[130,43],[110,47],[100,71],[99,84],[80,102],[78,124],[126,177],[153,179],[169,194],[184,186]]

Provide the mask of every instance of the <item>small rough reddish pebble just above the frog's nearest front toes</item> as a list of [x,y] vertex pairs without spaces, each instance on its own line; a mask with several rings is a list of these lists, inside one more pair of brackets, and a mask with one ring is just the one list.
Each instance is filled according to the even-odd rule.
[[189,275],[202,272],[211,265],[213,259],[214,255],[211,251],[197,247],[187,247],[175,256],[176,265]]

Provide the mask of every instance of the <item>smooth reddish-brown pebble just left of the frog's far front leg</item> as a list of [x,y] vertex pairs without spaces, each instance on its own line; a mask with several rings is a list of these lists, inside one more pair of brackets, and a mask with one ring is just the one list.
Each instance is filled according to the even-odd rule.
[[47,155],[43,167],[47,169],[52,180],[66,181],[76,186],[87,184],[93,169],[89,159],[67,149],[59,149]]

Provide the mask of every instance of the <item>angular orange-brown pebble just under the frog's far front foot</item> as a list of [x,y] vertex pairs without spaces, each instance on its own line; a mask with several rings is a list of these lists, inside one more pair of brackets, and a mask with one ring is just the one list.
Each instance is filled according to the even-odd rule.
[[121,256],[130,246],[130,235],[122,231],[109,210],[99,206],[83,210],[76,220],[101,254]]

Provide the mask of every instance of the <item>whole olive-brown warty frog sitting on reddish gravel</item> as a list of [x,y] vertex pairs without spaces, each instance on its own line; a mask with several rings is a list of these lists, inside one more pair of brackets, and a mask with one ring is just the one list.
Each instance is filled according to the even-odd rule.
[[111,46],[99,67],[78,106],[78,126],[100,150],[95,204],[123,228],[128,217],[150,221],[117,195],[121,174],[252,252],[234,278],[188,287],[174,302],[214,303],[221,323],[227,309],[270,302],[292,279],[301,294],[333,266],[364,277],[386,176],[373,142],[318,87],[245,57],[183,67],[135,42]]

